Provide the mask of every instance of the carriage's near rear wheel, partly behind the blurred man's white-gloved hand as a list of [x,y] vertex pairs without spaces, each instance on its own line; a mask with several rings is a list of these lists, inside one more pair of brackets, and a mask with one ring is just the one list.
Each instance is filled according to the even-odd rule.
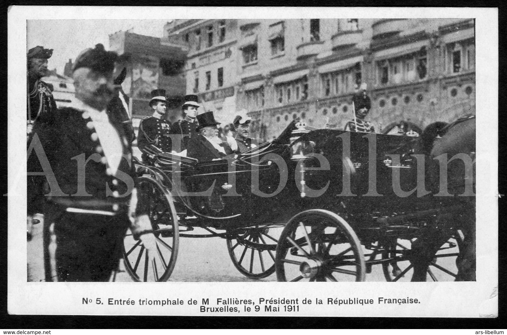
[[167,281],[176,264],[179,242],[178,217],[170,192],[149,176],[137,179],[138,188],[146,192],[149,217],[156,239],[156,250],[136,241],[130,230],[124,239],[124,261],[135,281]]

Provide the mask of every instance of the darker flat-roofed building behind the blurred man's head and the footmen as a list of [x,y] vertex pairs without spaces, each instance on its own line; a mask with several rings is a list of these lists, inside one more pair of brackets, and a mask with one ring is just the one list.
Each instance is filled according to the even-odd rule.
[[181,104],[186,91],[186,49],[159,37],[118,31],[109,36],[110,49],[122,57],[120,67],[127,68],[122,83],[130,97],[129,113],[134,129],[139,121],[153,114],[149,106],[151,92],[164,89],[168,99],[166,118],[174,122],[181,116]]

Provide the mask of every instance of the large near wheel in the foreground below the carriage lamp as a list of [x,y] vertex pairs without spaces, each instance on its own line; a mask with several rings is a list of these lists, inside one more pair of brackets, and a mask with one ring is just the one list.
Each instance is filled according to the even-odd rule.
[[276,246],[278,281],[364,281],[363,248],[349,224],[324,210],[301,212]]

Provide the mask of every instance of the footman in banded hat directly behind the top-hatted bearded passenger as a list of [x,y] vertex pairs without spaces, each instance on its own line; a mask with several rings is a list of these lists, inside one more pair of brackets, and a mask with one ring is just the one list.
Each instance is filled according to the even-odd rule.
[[[196,120],[196,117],[197,110],[201,106],[196,95],[187,95],[185,96],[184,100],[185,102],[182,106],[183,119],[174,122],[171,130],[171,134],[176,134],[183,137],[180,151],[187,149],[187,145],[190,139],[197,136],[197,126],[199,124]],[[177,146],[174,145],[173,149],[176,150]]]

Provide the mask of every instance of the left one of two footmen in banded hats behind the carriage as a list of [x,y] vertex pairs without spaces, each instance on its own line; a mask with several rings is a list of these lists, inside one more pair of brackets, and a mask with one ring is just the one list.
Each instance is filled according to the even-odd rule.
[[[167,110],[165,90],[153,90],[150,107],[153,115],[139,123],[137,146],[140,150],[147,145],[153,144],[164,152],[171,152],[171,124],[164,118]],[[143,154],[143,160],[146,156]]]

